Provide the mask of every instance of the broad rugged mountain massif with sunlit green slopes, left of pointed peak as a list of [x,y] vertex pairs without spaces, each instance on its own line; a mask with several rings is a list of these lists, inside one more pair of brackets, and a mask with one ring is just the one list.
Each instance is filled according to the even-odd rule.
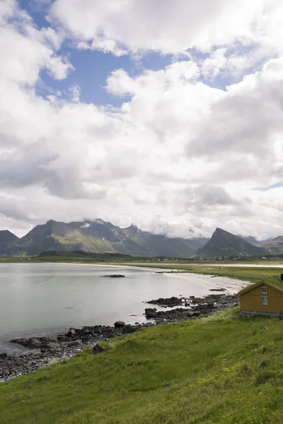
[[195,254],[207,239],[168,238],[139,230],[136,225],[120,228],[101,219],[62,223],[49,220],[37,225],[0,254],[40,254],[48,250],[121,253],[132,256],[186,258]]

